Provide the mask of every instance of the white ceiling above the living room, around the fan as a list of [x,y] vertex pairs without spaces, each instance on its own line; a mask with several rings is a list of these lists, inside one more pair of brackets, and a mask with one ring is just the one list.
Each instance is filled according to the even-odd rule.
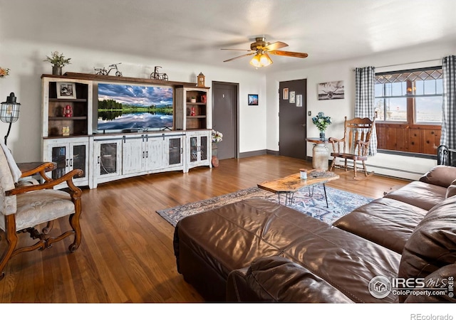
[[220,49],[265,36],[309,53],[271,55],[265,71],[456,43],[455,0],[0,0],[0,12],[0,39],[242,69],[249,57],[223,60],[246,52]]

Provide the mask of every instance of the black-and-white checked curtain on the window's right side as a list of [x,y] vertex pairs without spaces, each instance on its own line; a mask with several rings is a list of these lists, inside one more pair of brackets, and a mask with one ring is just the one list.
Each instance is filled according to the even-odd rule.
[[443,58],[442,73],[443,104],[440,144],[448,149],[456,149],[456,55]]

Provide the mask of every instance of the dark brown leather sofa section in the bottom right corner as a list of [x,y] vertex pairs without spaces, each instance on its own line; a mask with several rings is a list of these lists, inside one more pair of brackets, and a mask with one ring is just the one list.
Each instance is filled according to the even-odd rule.
[[[425,284],[428,290],[414,289],[405,302],[423,303],[423,302],[456,302],[454,294],[454,282],[456,277],[456,265],[445,265],[435,272],[425,277]],[[432,292],[435,289],[435,292]],[[429,294],[425,294],[429,293]],[[443,293],[443,294],[440,294]]]

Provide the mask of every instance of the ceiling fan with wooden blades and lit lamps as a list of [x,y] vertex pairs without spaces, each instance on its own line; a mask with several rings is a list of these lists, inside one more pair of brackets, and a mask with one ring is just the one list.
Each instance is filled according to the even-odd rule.
[[221,50],[249,51],[250,53],[246,53],[244,55],[239,55],[237,57],[234,57],[234,58],[231,58],[228,60],[224,60],[224,62],[246,57],[247,55],[254,55],[252,60],[250,60],[250,64],[257,68],[266,67],[266,65],[270,65],[272,63],[272,60],[271,60],[271,58],[269,58],[268,53],[270,53],[272,55],[284,55],[286,57],[307,58],[307,53],[277,50],[277,49],[284,48],[284,47],[288,47],[288,45],[284,42],[276,41],[274,43],[269,43],[269,42],[266,42],[266,38],[259,37],[259,38],[255,38],[255,42],[250,44],[250,50],[244,50],[244,49],[221,49]]

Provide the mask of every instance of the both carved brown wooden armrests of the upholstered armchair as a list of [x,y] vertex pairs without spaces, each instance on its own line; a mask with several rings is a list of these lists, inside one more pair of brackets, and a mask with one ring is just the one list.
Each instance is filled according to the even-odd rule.
[[[49,162],[48,164],[51,164],[53,166],[53,164],[51,162]],[[38,170],[38,168],[36,168],[36,171],[34,171],[35,169],[33,169],[28,172],[34,172],[34,173],[39,172],[40,174],[42,173],[43,176],[46,176],[46,174],[44,174],[44,172],[45,172],[44,169],[48,168],[48,166],[46,166],[46,165],[47,164],[43,164],[42,166],[38,167],[38,168],[42,168],[41,171]],[[71,194],[71,198],[80,197],[81,189],[74,185],[73,177],[82,176],[82,175],[83,175],[83,171],[81,169],[74,169],[74,170],[68,172],[68,174],[63,175],[58,179],[52,179],[52,178],[49,178],[48,176],[46,176],[46,182],[44,182],[44,183],[41,183],[38,185],[33,185],[33,186],[19,186],[12,190],[6,191],[5,194],[6,194],[6,196],[14,196],[17,194],[26,193],[28,191],[51,189],[60,183],[66,182],[68,185],[68,188],[70,189],[70,191],[68,191],[68,193]]]

